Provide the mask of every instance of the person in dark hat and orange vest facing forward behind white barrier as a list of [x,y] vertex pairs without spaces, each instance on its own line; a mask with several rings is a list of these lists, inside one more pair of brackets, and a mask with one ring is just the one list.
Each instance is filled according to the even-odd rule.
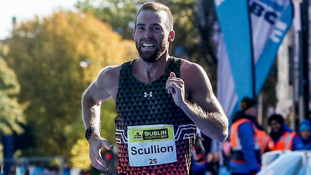
[[270,136],[272,138],[269,143],[270,151],[304,149],[304,144],[298,134],[284,123],[284,118],[280,114],[270,116],[268,124],[271,128]]

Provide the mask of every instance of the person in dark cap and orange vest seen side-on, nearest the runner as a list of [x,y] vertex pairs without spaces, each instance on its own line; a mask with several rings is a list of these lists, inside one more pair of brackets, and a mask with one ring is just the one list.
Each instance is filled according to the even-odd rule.
[[233,175],[256,174],[260,170],[261,154],[267,149],[269,136],[257,123],[257,102],[243,98],[230,128],[232,156],[230,169]]

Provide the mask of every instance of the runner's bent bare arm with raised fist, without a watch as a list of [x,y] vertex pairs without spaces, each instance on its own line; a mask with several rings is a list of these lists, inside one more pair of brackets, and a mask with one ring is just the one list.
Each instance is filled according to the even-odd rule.
[[[168,93],[172,93],[174,102],[187,116],[212,139],[222,142],[228,136],[229,121],[219,101],[213,93],[211,82],[205,70],[196,63],[183,68],[184,79],[170,74],[166,83]],[[182,69],[182,68],[181,68]],[[189,92],[185,98],[185,86]],[[170,89],[174,88],[173,91]]]

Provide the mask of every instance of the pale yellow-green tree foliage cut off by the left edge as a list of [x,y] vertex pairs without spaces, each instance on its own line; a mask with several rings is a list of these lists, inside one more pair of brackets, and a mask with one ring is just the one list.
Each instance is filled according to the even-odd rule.
[[[0,55],[5,56],[7,52],[8,47],[0,44]],[[19,92],[16,74],[0,56],[0,136],[23,132],[21,124],[25,123],[24,106],[17,101]]]

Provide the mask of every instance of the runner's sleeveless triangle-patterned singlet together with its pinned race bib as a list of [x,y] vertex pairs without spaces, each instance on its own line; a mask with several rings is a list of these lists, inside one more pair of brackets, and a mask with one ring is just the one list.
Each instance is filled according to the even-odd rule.
[[133,61],[122,65],[115,102],[118,174],[188,175],[197,126],[165,89],[170,72],[179,77],[181,59],[169,59],[150,84],[132,76]]

